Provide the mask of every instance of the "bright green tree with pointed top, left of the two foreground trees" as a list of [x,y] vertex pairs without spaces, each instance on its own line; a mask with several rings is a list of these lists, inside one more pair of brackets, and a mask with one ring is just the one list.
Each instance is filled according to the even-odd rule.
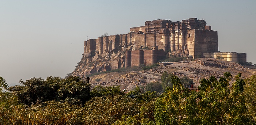
[[197,93],[184,89],[180,79],[172,76],[173,88],[167,87],[155,103],[157,125],[198,124]]

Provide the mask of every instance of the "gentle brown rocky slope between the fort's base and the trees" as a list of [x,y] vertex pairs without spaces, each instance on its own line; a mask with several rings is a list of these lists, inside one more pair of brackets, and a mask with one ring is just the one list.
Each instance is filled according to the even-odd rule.
[[[81,66],[80,64],[76,68],[76,71],[74,72],[76,72],[77,75],[79,75],[80,71],[89,72],[88,69],[83,70],[79,67],[85,67],[85,65]],[[219,78],[223,76],[223,73],[231,72],[233,76],[237,75],[237,73],[242,73],[242,77],[246,78],[256,73],[255,69],[249,69],[237,63],[213,58],[197,58],[195,61],[190,62],[174,62],[171,65],[159,66],[146,71],[129,70],[130,71],[127,69],[123,72],[101,73],[99,75],[91,76],[91,84],[92,86],[120,86],[121,89],[126,89],[129,91],[136,86],[140,86],[140,84],[145,86],[150,82],[160,82],[161,73],[166,71],[173,73],[178,77],[188,76],[194,80],[195,87],[197,87],[199,86],[200,79],[209,78],[212,75]]]

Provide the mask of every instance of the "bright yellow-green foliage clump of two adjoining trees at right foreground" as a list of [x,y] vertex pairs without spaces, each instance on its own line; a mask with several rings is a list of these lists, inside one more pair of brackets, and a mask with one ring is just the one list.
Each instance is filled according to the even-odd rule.
[[229,82],[233,79],[230,72],[217,80],[201,79],[199,92],[184,89],[177,76],[167,78],[163,74],[163,82],[170,81],[173,88],[167,87],[155,103],[155,122],[162,124],[249,124],[252,123],[247,114],[245,82],[241,73],[235,77],[232,88]]

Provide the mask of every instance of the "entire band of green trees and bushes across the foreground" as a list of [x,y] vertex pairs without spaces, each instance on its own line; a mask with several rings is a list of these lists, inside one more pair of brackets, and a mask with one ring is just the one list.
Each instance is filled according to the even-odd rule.
[[124,93],[118,86],[91,89],[77,76],[31,78],[14,87],[0,76],[0,124],[255,124],[256,75],[241,79],[241,74],[226,72],[218,80],[211,76],[200,80],[199,92],[184,87],[191,83],[188,78],[163,73],[161,80],[145,90],[163,93],[139,87]]

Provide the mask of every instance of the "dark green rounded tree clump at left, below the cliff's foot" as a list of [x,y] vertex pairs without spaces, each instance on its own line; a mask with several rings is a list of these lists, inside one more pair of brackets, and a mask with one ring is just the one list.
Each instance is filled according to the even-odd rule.
[[31,78],[19,82],[23,86],[13,86],[8,91],[19,98],[26,105],[41,103],[56,99],[67,101],[71,104],[83,104],[90,99],[90,85],[81,77],[69,76],[67,79],[60,77]]

